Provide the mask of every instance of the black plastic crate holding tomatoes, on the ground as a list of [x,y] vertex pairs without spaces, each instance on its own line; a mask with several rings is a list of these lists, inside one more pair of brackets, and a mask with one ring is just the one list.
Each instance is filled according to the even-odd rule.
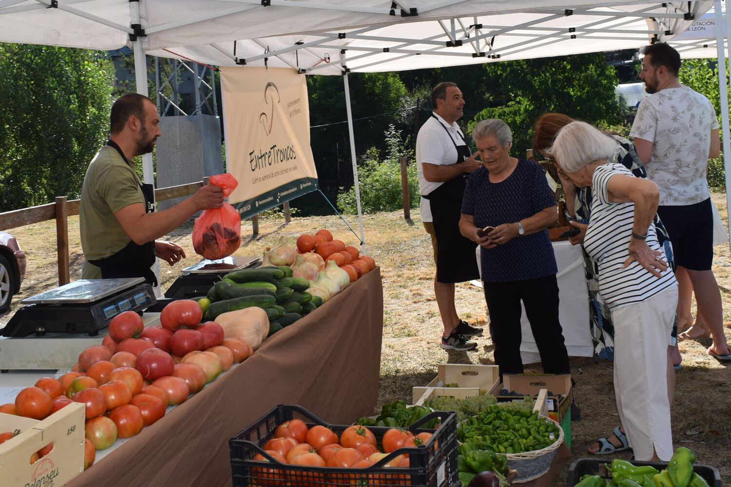
[[[441,418],[438,429],[420,426],[433,418]],[[425,445],[418,448],[399,448],[388,454],[374,467],[344,469],[333,467],[301,467],[281,464],[262,449],[274,436],[276,427],[285,421],[301,419],[308,427],[327,426],[341,436],[352,425],[330,424],[300,406],[279,405],[259,418],[249,428],[229,440],[231,475],[234,487],[454,487],[458,486],[457,472],[457,417],[453,412],[437,411],[426,415],[409,426],[414,435],[433,433]],[[390,428],[368,426],[382,450],[381,439]],[[270,461],[256,461],[260,453]],[[409,455],[409,467],[383,467],[401,454]]]

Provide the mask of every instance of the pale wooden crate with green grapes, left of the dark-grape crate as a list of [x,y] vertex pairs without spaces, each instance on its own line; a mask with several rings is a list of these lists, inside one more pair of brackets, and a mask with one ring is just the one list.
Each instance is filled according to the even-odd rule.
[[[458,384],[459,387],[445,388],[446,384]],[[433,396],[455,396],[458,399],[464,399],[469,396],[477,396],[480,389],[488,391],[488,394],[494,394],[498,391],[500,385],[500,373],[496,365],[464,365],[464,364],[439,364],[437,366],[437,375],[426,387],[412,388],[413,403],[423,404],[428,398],[423,398],[427,393],[431,394],[428,389],[444,388],[445,394],[433,394]],[[455,393],[455,389],[461,388],[477,388],[477,394],[460,395]],[[419,402],[421,399],[421,402]]]

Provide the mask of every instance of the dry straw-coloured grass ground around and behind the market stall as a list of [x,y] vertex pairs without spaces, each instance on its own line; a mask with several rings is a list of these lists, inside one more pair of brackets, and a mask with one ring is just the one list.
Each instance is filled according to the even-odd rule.
[[[727,222],[724,195],[714,200]],[[350,216],[355,226],[357,221]],[[436,364],[442,362],[493,364],[490,337],[480,337],[480,346],[469,353],[446,353],[439,348],[441,321],[433,299],[433,261],[431,242],[423,230],[418,212],[413,221],[404,221],[402,212],[366,215],[364,218],[368,253],[382,268],[384,317],[379,405],[398,399],[411,400],[412,386],[425,385],[436,375]],[[280,235],[295,238],[303,232],[327,228],[346,243],[357,242],[355,235],[337,217],[293,218],[260,222],[260,235],[251,238],[251,224],[243,224],[243,242],[238,254],[260,255],[268,245],[274,245]],[[162,287],[167,288],[179,275],[180,269],[197,261],[192,250],[192,223],[169,236],[186,252],[188,258],[175,267],[162,267]],[[18,298],[31,296],[53,288],[58,282],[56,271],[55,224],[53,221],[12,231],[28,255],[26,282]],[[78,237],[78,219],[69,221],[69,245],[72,249],[72,279],[80,277],[82,255]],[[724,246],[716,247],[713,271],[721,286],[724,318],[731,320],[731,256]],[[17,302],[13,307],[18,307]],[[459,284],[456,291],[457,311],[472,323],[485,324],[486,307],[482,290],[469,284]],[[12,312],[12,311],[11,311]],[[0,317],[5,323],[10,313]],[[727,328],[731,337],[731,329]],[[731,402],[730,370],[705,354],[710,340],[681,342],[683,369],[677,374],[673,404],[673,440],[675,446],[686,446],[697,453],[698,461],[719,468],[722,478],[731,478]],[[591,358],[574,358],[572,374],[577,380],[575,398],[583,418],[572,424],[572,450],[575,458],[588,456],[586,448],[596,438],[606,436],[618,424],[612,364]],[[526,372],[539,372],[537,364]],[[629,453],[619,456],[629,459]],[[602,457],[606,459],[607,457]],[[611,458],[611,457],[609,457]],[[565,473],[555,485],[565,485]]]

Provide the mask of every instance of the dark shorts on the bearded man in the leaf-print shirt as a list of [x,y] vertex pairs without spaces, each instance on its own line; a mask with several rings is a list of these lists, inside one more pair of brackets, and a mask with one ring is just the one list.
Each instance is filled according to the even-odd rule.
[[713,261],[713,210],[711,199],[682,206],[659,206],[676,266],[693,271],[711,270]]

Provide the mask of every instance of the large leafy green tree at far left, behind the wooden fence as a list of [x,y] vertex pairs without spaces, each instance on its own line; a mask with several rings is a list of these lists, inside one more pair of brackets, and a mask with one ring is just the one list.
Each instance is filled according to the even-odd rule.
[[107,137],[113,73],[94,51],[0,44],[0,211],[78,197]]

